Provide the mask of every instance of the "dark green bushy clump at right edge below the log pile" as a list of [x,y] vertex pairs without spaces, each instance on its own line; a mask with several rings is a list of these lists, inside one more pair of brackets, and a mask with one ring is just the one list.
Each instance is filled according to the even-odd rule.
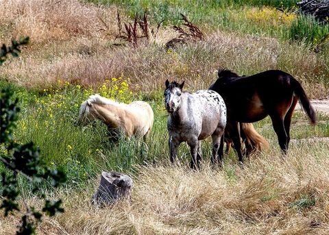
[[313,16],[297,16],[291,23],[289,38],[319,47],[329,36],[329,25],[320,24]]

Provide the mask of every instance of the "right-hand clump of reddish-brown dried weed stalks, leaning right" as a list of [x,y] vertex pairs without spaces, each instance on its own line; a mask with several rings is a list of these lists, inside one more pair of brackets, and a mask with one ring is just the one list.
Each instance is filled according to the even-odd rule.
[[166,49],[174,48],[178,43],[184,44],[188,40],[204,40],[204,34],[199,27],[193,25],[191,21],[188,21],[188,18],[184,16],[184,14],[181,14],[181,16],[181,20],[184,21],[182,25],[186,26],[188,31],[185,31],[180,26],[173,26],[173,29],[175,32],[178,32],[179,35],[166,43]]

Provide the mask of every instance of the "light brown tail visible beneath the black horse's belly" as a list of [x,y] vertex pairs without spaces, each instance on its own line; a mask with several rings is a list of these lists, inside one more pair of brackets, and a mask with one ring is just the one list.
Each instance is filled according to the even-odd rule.
[[241,129],[246,139],[247,144],[251,147],[251,151],[262,151],[262,149],[267,149],[269,147],[269,143],[263,136],[260,136],[254,125],[252,123],[240,123]]

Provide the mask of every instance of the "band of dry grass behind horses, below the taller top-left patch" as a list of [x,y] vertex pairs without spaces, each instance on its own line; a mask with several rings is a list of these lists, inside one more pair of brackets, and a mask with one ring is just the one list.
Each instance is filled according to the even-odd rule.
[[[166,29],[159,35],[174,35]],[[273,38],[215,32],[203,42],[165,51],[162,39],[138,48],[115,47],[103,38],[71,38],[60,45],[33,51],[1,68],[1,76],[36,88],[56,86],[58,79],[99,86],[105,79],[123,76],[137,90],[162,87],[165,79],[184,79],[190,88],[208,88],[219,67],[241,75],[282,69],[299,79],[313,98],[328,97],[326,59],[308,49]]]

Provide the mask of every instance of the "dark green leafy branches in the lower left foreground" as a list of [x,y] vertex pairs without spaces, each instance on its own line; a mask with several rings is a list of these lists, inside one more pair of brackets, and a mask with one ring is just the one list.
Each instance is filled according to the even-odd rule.
[[[0,208],[4,209],[5,216],[9,213],[19,211],[19,203],[17,202],[21,194],[21,186],[18,181],[19,175],[25,177],[31,184],[34,184],[33,193],[39,190],[40,183],[48,180],[54,187],[63,184],[66,181],[66,175],[57,169],[49,169],[40,158],[40,151],[33,143],[19,144],[16,143],[12,132],[16,127],[18,120],[19,108],[17,107],[18,99],[12,101],[13,91],[8,86],[1,89],[1,156],[0,162],[5,166],[6,171],[1,174],[2,184],[2,203]],[[41,194],[42,198],[46,198],[45,194]],[[22,217],[22,223],[16,234],[35,234],[36,225],[40,223],[42,214],[27,206],[23,197],[26,213]],[[61,200],[45,201],[42,212],[49,216],[53,216],[56,212],[64,212],[60,208]],[[33,219],[32,219],[33,218]]]

